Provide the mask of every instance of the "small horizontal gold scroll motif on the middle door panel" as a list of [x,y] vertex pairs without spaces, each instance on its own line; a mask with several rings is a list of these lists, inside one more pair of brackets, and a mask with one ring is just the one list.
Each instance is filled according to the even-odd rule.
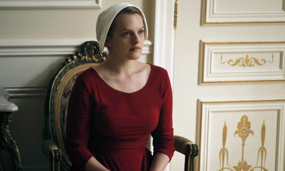
[[239,65],[239,66],[243,66],[243,67],[251,67],[251,66],[255,66],[255,64],[262,66],[262,65],[266,64],[266,62],[269,62],[269,63],[273,62],[273,53],[272,53],[272,60],[271,61],[266,61],[265,59],[261,59],[259,61],[257,58],[254,58],[254,57],[249,58],[248,55],[246,55],[246,58],[236,59],[235,62],[232,59],[230,59],[228,61],[224,61],[224,62],[222,62],[222,60],[223,60],[223,56],[221,54],[221,64],[227,63],[230,66]]

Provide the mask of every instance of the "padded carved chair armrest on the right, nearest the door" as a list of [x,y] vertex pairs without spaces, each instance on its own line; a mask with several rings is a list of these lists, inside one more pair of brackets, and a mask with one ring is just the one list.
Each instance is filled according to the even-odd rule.
[[198,145],[194,144],[187,138],[178,135],[174,135],[173,139],[175,151],[178,151],[179,153],[182,153],[184,155],[198,156]]

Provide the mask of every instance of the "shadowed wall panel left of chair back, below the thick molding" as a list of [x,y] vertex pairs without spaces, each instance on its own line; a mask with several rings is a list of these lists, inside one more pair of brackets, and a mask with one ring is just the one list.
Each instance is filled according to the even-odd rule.
[[5,88],[46,87],[50,78],[60,68],[67,57],[1,57],[0,86]]

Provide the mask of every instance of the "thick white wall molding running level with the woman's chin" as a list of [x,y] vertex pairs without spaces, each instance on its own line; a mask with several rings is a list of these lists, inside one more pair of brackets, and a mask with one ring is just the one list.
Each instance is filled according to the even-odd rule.
[[[85,41],[88,40],[0,40],[0,57],[72,55]],[[152,45],[151,40],[146,40],[142,55],[152,53]]]

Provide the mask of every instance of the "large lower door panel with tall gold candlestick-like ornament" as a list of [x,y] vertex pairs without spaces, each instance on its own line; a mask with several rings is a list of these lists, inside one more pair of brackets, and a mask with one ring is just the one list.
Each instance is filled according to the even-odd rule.
[[284,100],[201,102],[200,170],[234,169],[238,162],[253,169],[261,156],[267,170],[284,170],[284,107]]

